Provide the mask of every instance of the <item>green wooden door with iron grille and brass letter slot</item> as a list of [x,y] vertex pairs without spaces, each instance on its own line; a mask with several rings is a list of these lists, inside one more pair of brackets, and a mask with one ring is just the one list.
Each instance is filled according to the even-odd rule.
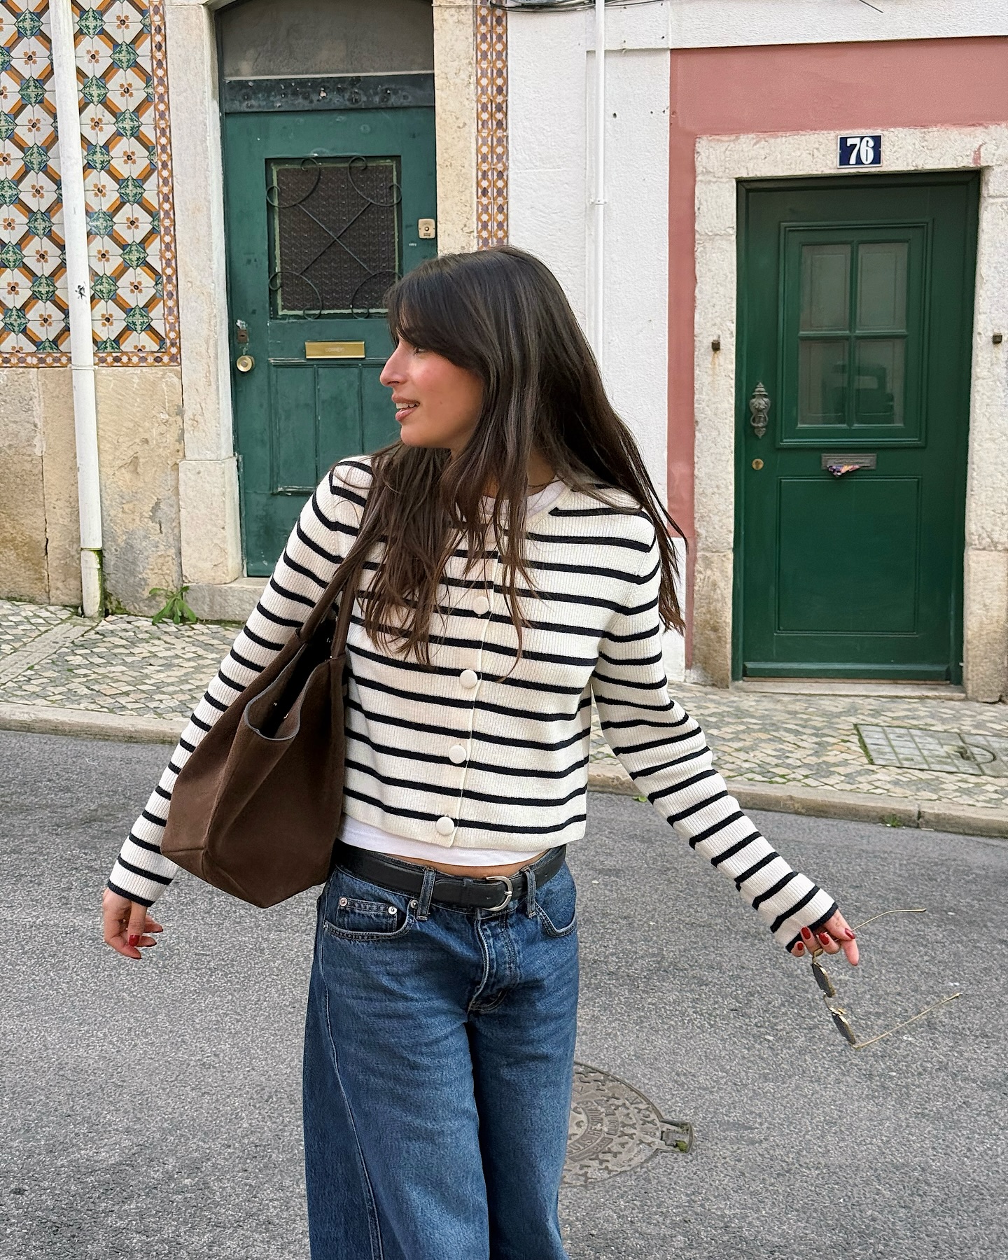
[[[396,436],[378,379],[392,348],[382,295],[436,252],[418,228],[436,213],[433,136],[430,107],[224,116],[249,575],[271,572],[330,464]],[[316,357],[334,353],[352,357]]]

